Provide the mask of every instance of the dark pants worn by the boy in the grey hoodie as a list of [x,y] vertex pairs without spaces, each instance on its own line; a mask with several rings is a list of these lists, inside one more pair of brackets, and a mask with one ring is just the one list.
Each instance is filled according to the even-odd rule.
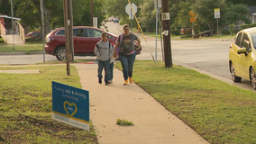
[[101,61],[98,60],[98,68],[97,68],[97,76],[99,79],[102,79],[102,70],[103,67],[105,69],[105,83],[107,83],[107,81],[109,80],[109,66],[110,66],[110,59],[106,60],[106,61]]

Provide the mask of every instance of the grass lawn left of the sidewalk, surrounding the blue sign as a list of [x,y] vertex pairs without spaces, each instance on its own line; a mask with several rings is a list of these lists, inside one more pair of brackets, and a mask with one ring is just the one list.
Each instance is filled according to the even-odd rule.
[[[39,74],[0,73],[0,143],[96,144],[92,123],[89,131],[51,120],[51,81],[81,88],[76,67],[65,65],[0,67],[40,69]],[[21,113],[21,114],[20,114]]]

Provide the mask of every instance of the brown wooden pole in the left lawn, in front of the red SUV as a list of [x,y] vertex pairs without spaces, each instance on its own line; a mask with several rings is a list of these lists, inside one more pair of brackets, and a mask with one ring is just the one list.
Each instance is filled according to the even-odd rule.
[[66,36],[66,57],[67,57],[67,75],[70,76],[69,62],[73,61],[73,14],[72,0],[63,0],[64,4],[64,24]]

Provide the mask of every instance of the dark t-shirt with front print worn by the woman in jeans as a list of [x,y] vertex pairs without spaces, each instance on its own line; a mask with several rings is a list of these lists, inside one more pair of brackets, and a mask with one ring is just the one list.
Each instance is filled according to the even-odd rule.
[[120,42],[121,35],[118,37],[118,42],[120,43],[120,50],[123,54],[132,54],[134,52],[134,40],[138,40],[138,37],[132,33],[128,36],[123,35],[123,40]]

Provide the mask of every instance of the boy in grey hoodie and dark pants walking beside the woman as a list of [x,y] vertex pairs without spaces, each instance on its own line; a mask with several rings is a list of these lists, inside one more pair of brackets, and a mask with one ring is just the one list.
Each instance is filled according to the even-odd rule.
[[110,58],[113,55],[113,49],[110,48],[111,44],[107,40],[107,34],[103,32],[101,34],[101,40],[96,43],[95,46],[95,54],[98,58],[98,69],[97,69],[97,76],[98,76],[98,83],[102,84],[102,71],[103,67],[105,68],[105,85],[108,85],[109,76],[110,76]]

